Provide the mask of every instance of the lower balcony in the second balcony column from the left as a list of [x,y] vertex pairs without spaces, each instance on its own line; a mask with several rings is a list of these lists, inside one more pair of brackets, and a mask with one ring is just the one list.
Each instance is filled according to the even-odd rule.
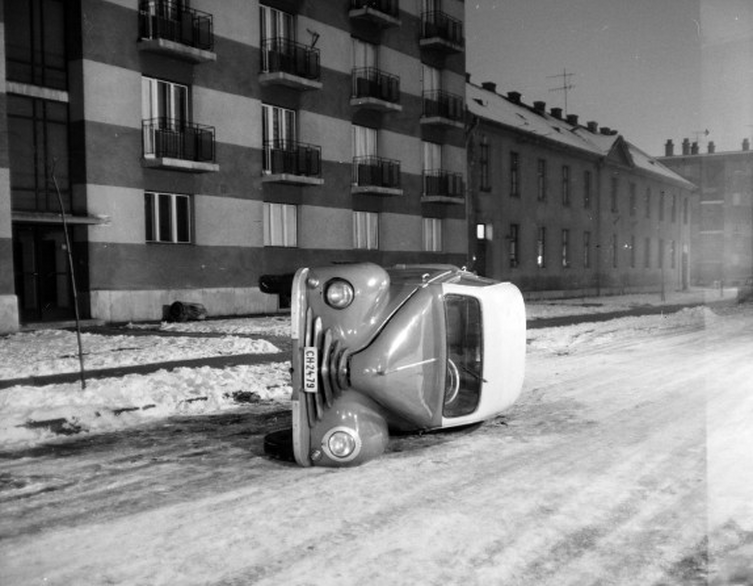
[[322,149],[289,140],[267,142],[263,170],[263,183],[322,185]]

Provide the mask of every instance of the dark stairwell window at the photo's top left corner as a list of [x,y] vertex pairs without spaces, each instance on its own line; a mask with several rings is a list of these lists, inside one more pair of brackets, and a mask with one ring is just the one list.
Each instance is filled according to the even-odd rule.
[[65,90],[66,6],[64,0],[5,2],[6,77]]

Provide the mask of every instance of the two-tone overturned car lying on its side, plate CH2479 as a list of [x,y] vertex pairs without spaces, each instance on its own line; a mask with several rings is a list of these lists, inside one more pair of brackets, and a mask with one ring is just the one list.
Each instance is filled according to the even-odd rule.
[[520,394],[525,307],[510,283],[451,265],[362,263],[302,268],[287,284],[287,437],[302,466],[357,465],[385,450],[390,430],[479,423]]

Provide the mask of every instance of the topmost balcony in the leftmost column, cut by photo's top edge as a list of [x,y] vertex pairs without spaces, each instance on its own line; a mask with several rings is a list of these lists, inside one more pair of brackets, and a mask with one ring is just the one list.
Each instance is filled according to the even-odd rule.
[[193,63],[215,61],[211,14],[171,0],[139,4],[139,50],[163,53]]

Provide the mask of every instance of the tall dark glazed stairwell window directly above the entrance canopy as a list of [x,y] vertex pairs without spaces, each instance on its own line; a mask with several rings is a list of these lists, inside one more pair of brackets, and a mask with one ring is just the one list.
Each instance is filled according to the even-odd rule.
[[60,213],[57,183],[70,213],[68,105],[9,95],[7,108],[11,209]]

